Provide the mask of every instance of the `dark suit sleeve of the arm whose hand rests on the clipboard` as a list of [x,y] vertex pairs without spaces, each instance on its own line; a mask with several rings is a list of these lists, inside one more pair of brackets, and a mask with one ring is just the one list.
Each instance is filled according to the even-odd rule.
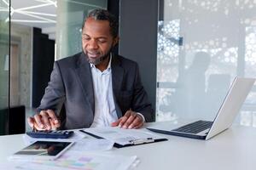
[[146,122],[154,122],[154,111],[148,101],[148,95],[141,82],[138,65],[136,65],[136,74],[134,82],[134,93],[131,109],[143,114]]

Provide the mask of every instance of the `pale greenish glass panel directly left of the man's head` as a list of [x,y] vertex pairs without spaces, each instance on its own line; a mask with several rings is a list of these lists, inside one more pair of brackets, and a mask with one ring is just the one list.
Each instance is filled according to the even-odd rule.
[[84,17],[94,8],[107,9],[107,0],[57,1],[56,59],[82,51],[81,33]]

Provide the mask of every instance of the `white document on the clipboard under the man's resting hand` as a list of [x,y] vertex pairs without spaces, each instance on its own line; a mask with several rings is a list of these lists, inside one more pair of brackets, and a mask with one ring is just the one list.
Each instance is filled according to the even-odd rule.
[[144,131],[143,129],[124,129],[120,127],[95,127],[84,128],[85,132],[108,139],[114,143],[125,144],[144,144],[154,142],[155,139],[163,139],[155,133]]

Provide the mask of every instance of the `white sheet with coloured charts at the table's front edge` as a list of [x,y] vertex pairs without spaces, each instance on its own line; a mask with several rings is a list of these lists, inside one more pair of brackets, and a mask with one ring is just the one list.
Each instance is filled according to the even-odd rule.
[[92,153],[68,150],[55,161],[9,161],[0,164],[0,169],[8,170],[127,170],[136,167],[137,156],[119,156],[108,153]]

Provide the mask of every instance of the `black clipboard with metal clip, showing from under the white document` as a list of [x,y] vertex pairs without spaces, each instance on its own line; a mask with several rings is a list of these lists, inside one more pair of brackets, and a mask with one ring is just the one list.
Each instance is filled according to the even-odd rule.
[[[79,130],[81,133],[86,133],[96,139],[104,139],[96,134],[93,133],[89,133],[84,131],[83,129]],[[129,146],[136,146],[136,145],[140,145],[140,144],[152,144],[155,142],[161,142],[161,141],[166,141],[168,139],[165,138],[161,138],[161,139],[153,139],[153,138],[146,138],[146,139],[131,139],[129,140],[129,144],[118,144],[118,143],[114,143],[113,147],[115,148],[125,148],[125,147],[129,147]]]

